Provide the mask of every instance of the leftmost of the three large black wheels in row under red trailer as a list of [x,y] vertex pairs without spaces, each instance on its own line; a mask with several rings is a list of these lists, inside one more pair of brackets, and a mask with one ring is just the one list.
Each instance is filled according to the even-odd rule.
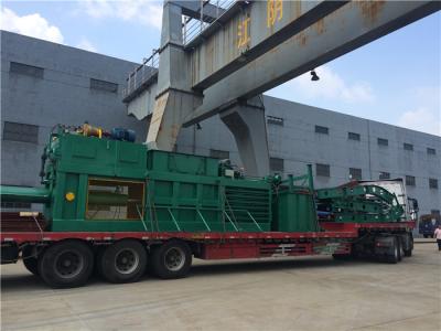
[[94,254],[78,241],[56,243],[39,258],[39,274],[53,288],[85,285],[94,270]]

